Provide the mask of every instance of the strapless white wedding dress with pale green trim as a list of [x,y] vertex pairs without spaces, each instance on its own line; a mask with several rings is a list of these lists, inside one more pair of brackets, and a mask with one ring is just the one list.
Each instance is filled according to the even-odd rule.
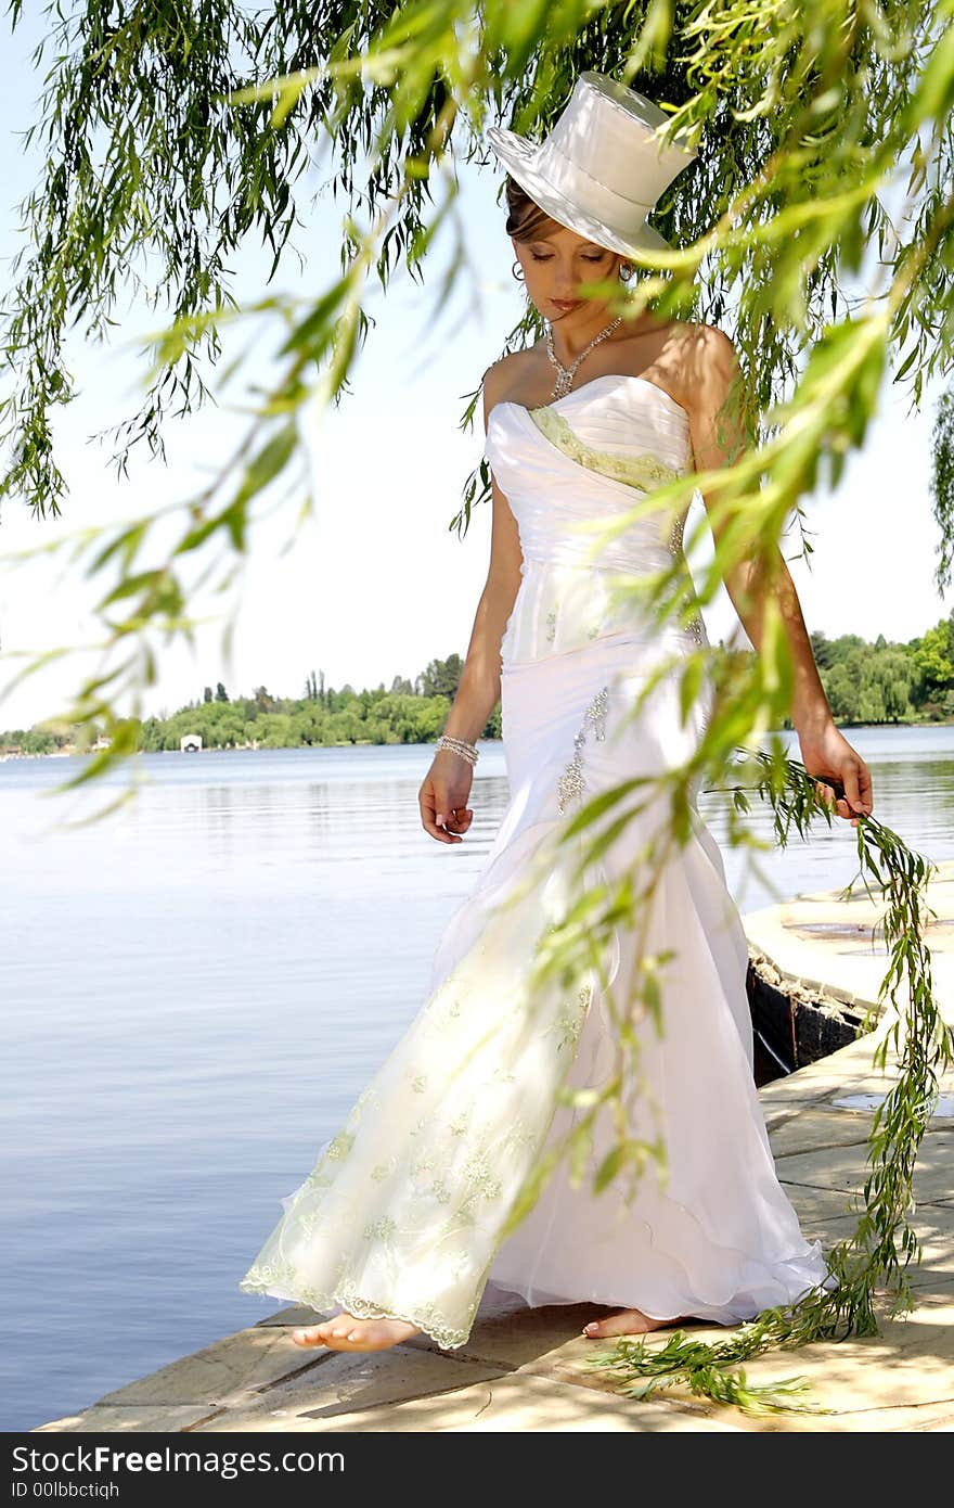
[[[683,724],[678,665],[701,618],[660,629],[613,594],[681,553],[663,510],[603,544],[609,519],[689,469],[686,412],[648,379],[595,377],[540,409],[497,403],[485,455],[515,514],[521,582],[503,633],[502,733],[509,804],[475,890],[437,947],[431,994],[320,1148],[315,1169],[240,1282],[321,1312],[407,1320],[442,1347],[467,1341],[488,1280],[531,1304],[594,1301],[660,1320],[723,1324],[794,1303],[826,1279],[782,1187],[752,1077],[748,947],[719,847],[690,804],[687,841],[659,870],[638,926],[616,926],[571,986],[532,977],[537,942],[579,896],[592,835],[559,841],[601,790],[681,766],[710,683]],[[659,676],[636,715],[647,679]],[[662,787],[586,872],[610,884],[668,829]],[[695,787],[693,787],[695,790]],[[612,808],[610,816],[616,816]],[[565,1092],[616,1066],[616,1015],[638,958],[665,955],[662,1031],[636,1016],[639,1104],[627,1134],[665,1143],[634,1185],[600,1193],[615,1145],[606,1107],[588,1172],[564,1158],[515,1229],[508,1214],[583,1110]],[[624,1194],[624,1188],[630,1193]]]

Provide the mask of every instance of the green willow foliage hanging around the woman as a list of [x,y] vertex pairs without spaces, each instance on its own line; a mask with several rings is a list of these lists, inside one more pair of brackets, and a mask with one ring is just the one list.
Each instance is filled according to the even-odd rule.
[[[23,0],[9,14],[20,24]],[[169,418],[206,401],[205,368],[220,354],[226,321],[277,330],[277,379],[264,394],[250,383],[247,434],[206,487],[48,546],[69,552],[101,591],[104,667],[80,677],[65,716],[105,730],[110,745],[78,780],[128,759],[130,719],[155,680],[161,645],[193,632],[188,572],[228,587],[276,490],[282,504],[310,507],[300,415],[315,424],[344,400],[354,357],[372,338],[375,285],[386,290],[401,267],[427,279],[440,244],[449,270],[434,290],[437,317],[458,280],[476,276],[457,214],[457,169],[496,170],[485,127],[546,133],[585,68],[657,100],[669,131],[698,146],[651,216],[674,250],[639,258],[636,291],[660,315],[723,330],[738,357],[746,449],[653,496],[677,508],[699,487],[711,504],[720,529],[698,582],[702,603],[740,561],[778,547],[808,492],[836,487],[886,380],[907,382],[919,404],[925,383],[951,377],[954,0],[282,0],[258,11],[231,0],[59,0],[44,15],[39,118],[24,134],[42,170],[21,207],[24,246],[2,309],[0,505],[42,517],[63,510],[53,436],[56,410],[75,395],[65,338],[105,338],[130,291],[169,318],[151,345],[139,410],[105,436],[121,474],[143,442],[161,455]],[[315,296],[265,293],[240,309],[231,255],[261,238],[271,284],[294,252],[316,173],[342,201],[338,274]],[[527,308],[503,350],[538,329]],[[475,383],[463,425],[478,397]],[[488,486],[481,461],[451,520],[458,532]],[[954,550],[949,398],[937,416],[933,486],[943,587]],[[674,593],[660,578],[660,612],[674,609]],[[33,657],[8,691],[66,653]],[[719,694],[692,766],[666,775],[669,843],[686,832],[690,780],[731,781],[738,751],[755,757],[764,730],[785,716],[791,664],[772,603],[758,656],[741,670],[717,659],[705,668]],[[687,667],[686,698],[699,674]],[[773,807],[781,841],[793,825],[806,828],[809,808],[817,816],[812,777],[778,748],[755,789]],[[741,828],[745,792],[738,798]],[[591,816],[574,820],[585,826]],[[625,817],[622,807],[618,820]],[[678,1336],[656,1351],[619,1342],[612,1365],[644,1390],[686,1381],[761,1407],[737,1363],[775,1342],[867,1333],[880,1283],[904,1298],[916,1246],[910,1178],[937,1074],[951,1063],[951,1033],[922,942],[928,866],[871,817],[859,820],[858,841],[862,873],[886,905],[886,998],[901,979],[907,991],[903,1030],[885,1039],[900,1077],[876,1116],[865,1215],[832,1255],[835,1289],[794,1315],[760,1316],[716,1347]],[[651,866],[647,876],[651,885]],[[606,914],[624,914],[624,899]],[[580,896],[595,939],[604,902]],[[559,967],[561,955],[565,965],[573,942],[570,927],[541,965]],[[639,988],[650,1003],[650,971]]]

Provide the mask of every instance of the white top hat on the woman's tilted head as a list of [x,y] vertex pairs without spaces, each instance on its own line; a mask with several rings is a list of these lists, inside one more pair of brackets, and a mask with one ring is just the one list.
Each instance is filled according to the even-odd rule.
[[607,74],[579,75],[553,130],[531,142],[505,127],[487,139],[511,178],[559,225],[612,252],[669,250],[645,223],[656,201],[698,151],[654,136],[669,116]]

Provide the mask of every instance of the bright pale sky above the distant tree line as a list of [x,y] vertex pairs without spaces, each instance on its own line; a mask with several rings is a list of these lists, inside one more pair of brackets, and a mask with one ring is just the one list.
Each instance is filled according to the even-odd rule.
[[[11,258],[21,244],[18,204],[39,181],[35,154],[20,134],[36,118],[41,78],[30,65],[42,17],[0,42],[0,133],[5,139],[0,196],[0,287],[9,291]],[[312,187],[327,176],[318,160]],[[398,273],[384,296],[368,303],[374,326],[353,368],[341,409],[303,416],[313,511],[297,528],[297,507],[274,510],[252,532],[240,587],[205,593],[190,603],[208,618],[194,645],[166,645],[158,636],[158,680],[145,694],[143,715],[167,715],[200,700],[223,682],[229,695],[267,686],[300,697],[306,677],[324,673],[326,686],[356,689],[395,676],[417,676],[431,659],[466,653],[490,558],[490,510],[475,510],[466,535],[451,531],[463,489],[484,446],[481,406],[472,430],[461,415],[487,366],[502,353],[523,306],[511,274],[512,247],[496,202],[493,167],[458,166],[458,201],[473,276],[463,276],[437,312],[437,285],[449,243],[439,243],[422,288]],[[300,299],[320,294],[338,274],[338,226],[344,201],[301,193],[304,229],[295,232],[303,264],[286,255],[271,290],[270,255],[250,244],[235,258],[232,293],[243,305],[280,290]],[[478,271],[479,270],[479,271]],[[112,446],[90,436],[131,418],[143,391],[143,336],[164,323],[161,311],[127,302],[116,311],[109,345],[74,336],[68,365],[78,395],[56,416],[56,457],[68,483],[59,519],[38,519],[26,504],[0,507],[0,730],[29,727],[69,704],[83,676],[101,668],[93,606],[102,594],[66,550],[51,541],[112,519],[187,501],[225,464],[249,424],[249,388],[274,371],[285,329],[265,320],[238,321],[223,333],[219,366],[203,368],[217,394],[182,419],[170,418],[167,457],[134,448],[128,475],[110,464]],[[228,386],[232,356],[250,348]],[[930,507],[930,437],[939,389],[913,412],[907,383],[886,383],[862,452],[836,490],[803,501],[811,564],[785,546],[809,630],[830,638],[883,633],[904,641],[922,633],[954,605],[933,584],[936,525]],[[693,517],[702,508],[693,502]],[[157,544],[170,535],[160,529]],[[41,550],[27,561],[24,550]],[[151,564],[146,552],[143,564]],[[223,630],[234,618],[231,653]],[[740,638],[725,593],[705,611],[710,638]],[[741,636],[745,642],[745,636]],[[38,674],[12,686],[18,671],[47,650],[68,647]],[[11,689],[12,688],[12,689]],[[121,710],[131,710],[124,707]]]

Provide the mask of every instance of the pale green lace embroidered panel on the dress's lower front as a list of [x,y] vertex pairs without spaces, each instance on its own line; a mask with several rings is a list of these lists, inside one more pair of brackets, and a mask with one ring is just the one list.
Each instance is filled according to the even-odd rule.
[[[478,942],[467,955],[472,968],[481,970],[481,959],[493,962],[496,952],[487,941]],[[402,1065],[402,1081],[407,1092],[417,1099],[431,1089],[433,1074],[425,1069],[422,1056],[434,1062],[443,1054],[442,1042],[451,1059],[457,1054],[461,1068],[470,1066],[472,1054],[461,1057],[455,1047],[455,1034],[466,1030],[467,1016],[481,1010],[487,991],[484,974],[448,976],[434,991],[419,1016],[422,1038],[417,1051],[408,1053]],[[543,995],[537,1000],[540,1016],[540,1039],[550,1044],[552,1065],[565,1063],[573,1056],[586,1010],[591,986],[583,983],[573,989],[558,989],[550,1004]],[[427,1025],[423,1025],[427,1022]],[[449,1034],[449,1036],[448,1036]],[[458,1039],[460,1041],[460,1039]],[[553,1069],[556,1072],[556,1069]],[[380,1111],[377,1081],[365,1087],[353,1105],[344,1126],[326,1143],[316,1166],[303,1184],[282,1200],[286,1212],[265,1243],[259,1258],[240,1282],[240,1288],[253,1294],[273,1294],[294,1298],[318,1312],[330,1312],[341,1306],[362,1320],[402,1320],[430,1335],[443,1350],[461,1347],[472,1330],[481,1301],[482,1283],[475,1283],[472,1297],[461,1304],[454,1285],[442,1298],[413,1291],[413,1285],[387,1282],[377,1297],[368,1294],[368,1264],[378,1261],[383,1268],[401,1277],[407,1267],[408,1231],[431,1226],[433,1249],[440,1253],[436,1274],[446,1280],[455,1264],[464,1270],[469,1261],[475,1232],[482,1243],[484,1262],[488,1264],[497,1241],[488,1244],[488,1234],[500,1226],[506,1214],[506,1200],[514,1194],[512,1169],[532,1167],[546,1134],[546,1119],[537,1108],[529,1114],[511,1113],[505,1129],[488,1120],[485,1101],[494,1086],[514,1083],[515,1072],[509,1062],[488,1065],[487,1074],[470,1086],[467,1095],[458,1099],[446,1120],[434,1113],[433,1102],[417,1101],[425,1113],[408,1126],[410,1157],[395,1154],[368,1160],[366,1175],[357,1172],[351,1178],[366,1176],[366,1188],[357,1187],[350,1197],[351,1212],[344,1214],[326,1200],[333,1194],[341,1169],[356,1155],[362,1134],[363,1111]],[[433,1095],[431,1095],[433,1099]],[[383,1151],[383,1149],[381,1149]],[[518,1193],[520,1184],[517,1184]],[[357,1221],[357,1215],[368,1212]],[[303,1271],[298,1259],[301,1241],[324,1232],[327,1238],[330,1221],[342,1224],[354,1218],[353,1232],[342,1240],[338,1258],[330,1262],[323,1283],[312,1280]],[[443,1271],[442,1271],[443,1264]],[[380,1276],[375,1279],[380,1283]],[[422,1276],[419,1288],[427,1285]]]

